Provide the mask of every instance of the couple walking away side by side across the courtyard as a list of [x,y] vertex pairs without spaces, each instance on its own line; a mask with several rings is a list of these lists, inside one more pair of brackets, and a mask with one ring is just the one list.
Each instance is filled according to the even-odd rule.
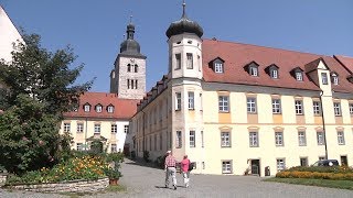
[[[188,155],[184,155],[183,160],[181,161],[181,172],[183,174],[184,178],[184,185],[188,188],[189,183],[190,183],[190,170],[189,170],[189,165],[190,165],[190,160],[188,158]],[[164,162],[164,170],[165,170],[165,188],[169,187],[169,177],[172,177],[173,182],[173,187],[174,190],[176,189],[176,160],[172,155],[171,151],[167,152],[167,157]]]

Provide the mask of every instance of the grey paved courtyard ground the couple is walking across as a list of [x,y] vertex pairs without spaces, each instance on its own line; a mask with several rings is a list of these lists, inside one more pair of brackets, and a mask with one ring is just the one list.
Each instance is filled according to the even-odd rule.
[[[126,193],[97,194],[84,197],[171,197],[171,198],[352,198],[353,190],[261,182],[254,176],[191,175],[191,186],[184,188],[181,174],[176,175],[178,189],[164,188],[164,172],[145,164],[126,160],[121,165],[124,177],[119,183],[127,186]],[[64,197],[52,194],[3,191],[0,197]]]

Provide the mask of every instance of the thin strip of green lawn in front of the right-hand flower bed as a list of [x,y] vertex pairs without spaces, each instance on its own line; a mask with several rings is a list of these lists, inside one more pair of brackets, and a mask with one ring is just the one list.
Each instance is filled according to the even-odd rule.
[[267,178],[264,182],[287,183],[306,186],[321,186],[353,190],[353,180],[309,179],[309,178]]

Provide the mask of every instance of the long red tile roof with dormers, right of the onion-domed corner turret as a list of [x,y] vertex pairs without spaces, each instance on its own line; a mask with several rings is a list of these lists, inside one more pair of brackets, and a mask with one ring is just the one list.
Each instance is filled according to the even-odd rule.
[[[346,80],[350,73],[331,56],[206,38],[203,40],[202,51],[205,81],[320,90],[307,75],[303,75],[303,81],[297,81],[291,70],[299,67],[306,72],[307,64],[322,58],[331,72],[339,74],[340,84],[332,88],[342,92],[353,91],[352,84]],[[214,73],[210,66],[210,63],[217,57],[224,61],[224,73],[222,74]],[[250,76],[244,69],[244,66],[252,62],[259,65],[258,77]],[[279,67],[278,79],[270,78],[265,72],[265,68],[271,64]]]

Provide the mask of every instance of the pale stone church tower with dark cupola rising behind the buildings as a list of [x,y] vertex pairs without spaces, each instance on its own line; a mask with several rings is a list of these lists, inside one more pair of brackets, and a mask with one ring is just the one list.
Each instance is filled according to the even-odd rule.
[[110,92],[119,98],[142,99],[146,92],[146,56],[140,53],[140,45],[133,38],[135,25],[127,25],[127,37],[120,44],[120,53],[110,73]]

